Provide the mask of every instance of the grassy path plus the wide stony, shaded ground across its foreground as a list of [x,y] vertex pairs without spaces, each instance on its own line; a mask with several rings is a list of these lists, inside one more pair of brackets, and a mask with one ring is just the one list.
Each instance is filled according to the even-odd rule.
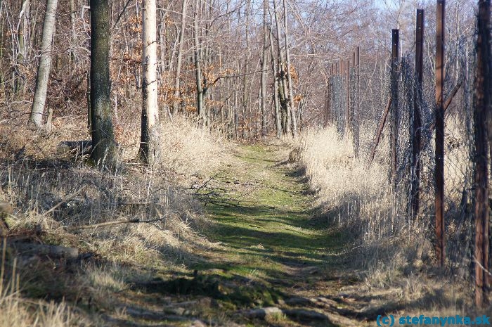
[[[381,308],[357,296],[344,237],[316,217],[315,195],[285,146],[239,146],[198,187],[214,245],[184,259],[188,273],[119,295],[118,326],[363,326]],[[186,262],[188,260],[188,262]],[[344,292],[342,292],[344,291]],[[383,311],[384,312],[384,311]],[[131,318],[129,321],[129,317]],[[164,324],[163,324],[164,323]]]

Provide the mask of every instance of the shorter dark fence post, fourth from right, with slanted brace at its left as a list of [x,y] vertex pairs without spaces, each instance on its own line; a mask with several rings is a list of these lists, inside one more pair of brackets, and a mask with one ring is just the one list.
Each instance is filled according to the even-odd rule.
[[389,110],[390,132],[389,146],[391,150],[391,167],[389,181],[393,191],[396,191],[396,165],[398,148],[398,93],[399,93],[399,53],[400,30],[392,30],[391,33],[391,109]]

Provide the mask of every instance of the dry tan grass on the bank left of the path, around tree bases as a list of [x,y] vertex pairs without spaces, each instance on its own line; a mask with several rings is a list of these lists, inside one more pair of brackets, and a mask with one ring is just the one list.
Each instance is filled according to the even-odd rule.
[[[188,272],[184,263],[213,247],[197,233],[209,222],[190,184],[204,183],[226,159],[228,144],[219,134],[186,117],[164,121],[162,162],[149,169],[134,160],[139,128],[128,123],[117,129],[126,165],[108,173],[91,168],[80,153],[56,152],[60,141],[90,139],[84,117],[58,118],[53,133],[43,136],[26,129],[22,110],[10,114],[9,124],[0,124],[0,200],[15,208],[8,236],[78,248],[95,259],[77,268],[63,259],[20,255],[20,288],[0,283],[0,327],[84,326],[70,318],[75,312],[65,303],[89,301],[112,312],[128,283],[150,279],[151,271]],[[78,228],[117,219],[153,222]],[[91,325],[99,320],[87,317]]]

